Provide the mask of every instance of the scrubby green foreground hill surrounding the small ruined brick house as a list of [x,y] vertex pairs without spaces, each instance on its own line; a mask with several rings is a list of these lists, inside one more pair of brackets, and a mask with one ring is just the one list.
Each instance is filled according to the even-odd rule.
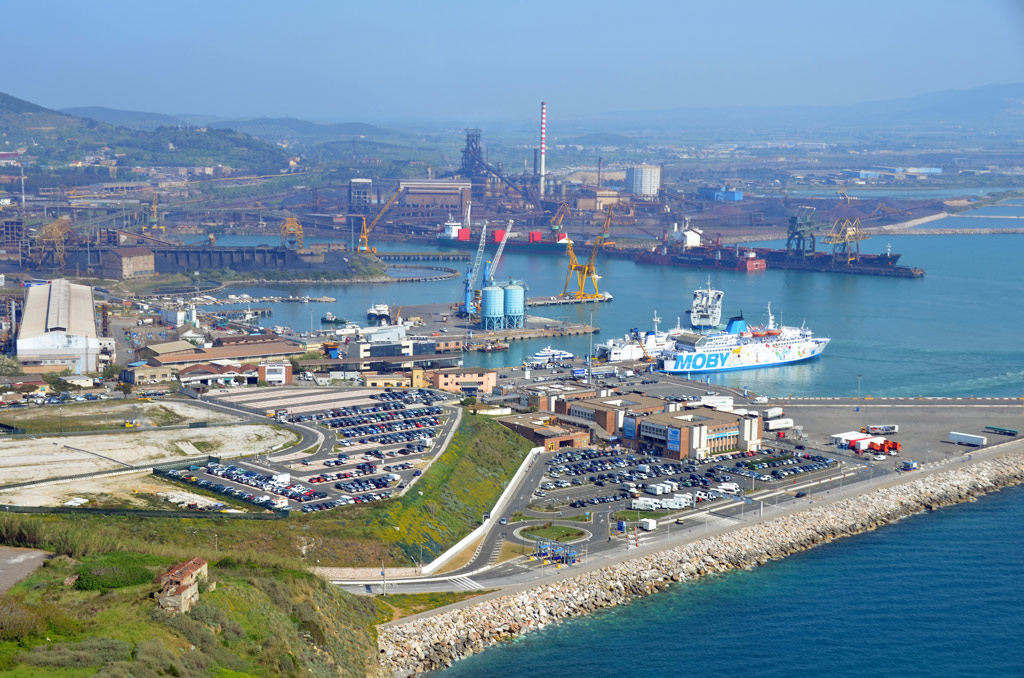
[[[54,558],[0,597],[0,673],[18,677],[362,676],[375,654],[372,599],[301,570],[223,558],[216,589],[170,617],[151,594],[174,559]],[[68,578],[78,575],[75,584]]]

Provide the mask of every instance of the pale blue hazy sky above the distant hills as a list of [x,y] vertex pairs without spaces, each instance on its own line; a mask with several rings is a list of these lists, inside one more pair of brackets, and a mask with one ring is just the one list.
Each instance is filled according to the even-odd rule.
[[1024,0],[3,5],[0,91],[365,122],[852,103],[1024,80]]

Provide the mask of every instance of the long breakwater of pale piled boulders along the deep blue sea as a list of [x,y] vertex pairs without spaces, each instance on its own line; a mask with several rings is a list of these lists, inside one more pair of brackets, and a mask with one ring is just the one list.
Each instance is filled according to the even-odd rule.
[[550,584],[384,625],[378,636],[381,673],[406,677],[442,669],[503,640],[678,582],[756,567],[909,515],[974,501],[1024,481],[1024,451],[1014,446],[1000,457],[946,468]]

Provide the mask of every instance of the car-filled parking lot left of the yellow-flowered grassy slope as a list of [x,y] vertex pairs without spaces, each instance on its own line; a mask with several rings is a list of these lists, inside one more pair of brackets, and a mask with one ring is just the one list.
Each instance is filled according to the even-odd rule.
[[389,499],[433,459],[453,425],[429,389],[260,389],[217,393],[219,406],[318,431],[307,453],[173,469],[172,478],[258,508],[305,513]]

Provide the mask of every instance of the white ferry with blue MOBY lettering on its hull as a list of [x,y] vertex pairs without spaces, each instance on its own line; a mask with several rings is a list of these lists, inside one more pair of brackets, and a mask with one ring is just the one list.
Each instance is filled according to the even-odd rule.
[[809,361],[821,354],[828,339],[816,339],[804,327],[776,327],[768,307],[768,324],[748,327],[743,317],[729,320],[724,332],[676,335],[674,353],[666,354],[663,371],[696,374],[753,370]]

